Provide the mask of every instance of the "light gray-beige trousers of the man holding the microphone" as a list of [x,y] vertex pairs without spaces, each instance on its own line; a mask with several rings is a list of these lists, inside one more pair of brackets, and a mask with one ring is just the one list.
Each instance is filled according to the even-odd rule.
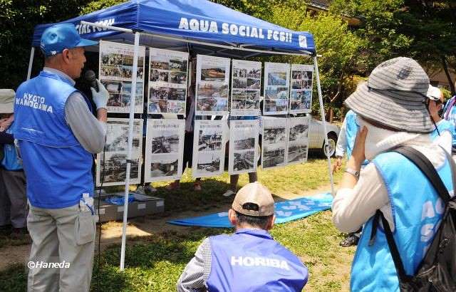
[[[28,291],[89,291],[96,230],[92,213],[79,205],[62,209],[30,206],[27,224],[33,241]],[[66,266],[43,268],[36,264],[41,261]]]

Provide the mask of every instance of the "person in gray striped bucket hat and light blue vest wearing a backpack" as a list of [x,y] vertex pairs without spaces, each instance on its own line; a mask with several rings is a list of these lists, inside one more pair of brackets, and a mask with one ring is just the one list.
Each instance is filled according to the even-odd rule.
[[[393,58],[377,66],[367,83],[358,86],[346,105],[359,117],[346,173],[333,199],[333,222],[344,232],[363,227],[351,270],[351,291],[399,291],[398,273],[383,228],[373,224],[383,213],[403,261],[414,275],[442,219],[442,200],[413,162],[397,152],[410,146],[421,152],[453,193],[450,162],[432,144],[434,130],[426,108],[429,78],[410,58]],[[361,163],[371,162],[363,168]],[[369,242],[372,229],[375,241]]]

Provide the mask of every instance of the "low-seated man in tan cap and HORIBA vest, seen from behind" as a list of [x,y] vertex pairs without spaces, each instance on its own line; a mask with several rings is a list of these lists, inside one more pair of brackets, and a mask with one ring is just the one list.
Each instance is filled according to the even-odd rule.
[[239,189],[228,218],[236,231],[205,239],[177,282],[177,291],[301,291],[309,273],[272,239],[274,199],[259,182]]

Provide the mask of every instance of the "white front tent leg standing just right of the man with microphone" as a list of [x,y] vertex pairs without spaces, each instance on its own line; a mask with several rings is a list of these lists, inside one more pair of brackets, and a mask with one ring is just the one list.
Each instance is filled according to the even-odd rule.
[[122,226],[122,249],[120,249],[120,271],[125,267],[125,241],[127,238],[127,218],[128,218],[128,193],[130,192],[130,169],[131,169],[131,149],[133,147],[133,122],[136,108],[136,79],[138,71],[138,51],[140,44],[140,33],[135,32],[135,52],[133,53],[133,76],[130,95],[130,116],[128,120],[128,155],[127,173],[125,177],[125,196],[123,203],[123,226]]

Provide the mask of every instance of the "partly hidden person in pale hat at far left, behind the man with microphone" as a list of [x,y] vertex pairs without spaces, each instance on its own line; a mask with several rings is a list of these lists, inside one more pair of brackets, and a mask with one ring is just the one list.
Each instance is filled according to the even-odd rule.
[[14,90],[0,89],[0,230],[18,237],[27,232],[27,197],[26,177],[14,147],[13,105]]

